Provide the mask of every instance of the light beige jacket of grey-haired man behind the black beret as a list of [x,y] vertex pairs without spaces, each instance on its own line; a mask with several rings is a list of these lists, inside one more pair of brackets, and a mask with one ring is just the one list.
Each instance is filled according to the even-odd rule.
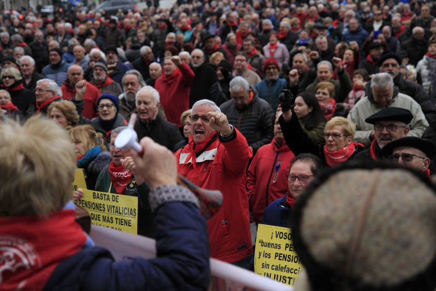
[[[368,93],[368,92],[367,92]],[[348,113],[347,119],[356,124],[356,134],[353,141],[369,146],[371,144],[371,131],[374,129],[373,124],[365,122],[365,119],[386,107],[400,107],[409,110],[413,114],[413,119],[408,124],[410,128],[407,136],[421,137],[424,130],[428,127],[428,122],[422,113],[420,105],[410,96],[398,92],[394,86],[392,100],[387,106],[381,106],[374,101],[371,90],[370,94],[361,98]]]

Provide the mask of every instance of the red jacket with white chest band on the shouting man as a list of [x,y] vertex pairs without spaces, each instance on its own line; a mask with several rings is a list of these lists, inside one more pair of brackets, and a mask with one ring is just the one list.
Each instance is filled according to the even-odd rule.
[[180,175],[202,188],[219,190],[223,194],[222,207],[207,221],[207,227],[210,256],[229,263],[247,258],[252,253],[245,188],[245,171],[252,153],[245,137],[234,130],[236,138],[233,141],[220,142],[218,138],[205,148],[196,158],[195,168],[191,160],[185,163],[190,153],[189,144],[174,154]]

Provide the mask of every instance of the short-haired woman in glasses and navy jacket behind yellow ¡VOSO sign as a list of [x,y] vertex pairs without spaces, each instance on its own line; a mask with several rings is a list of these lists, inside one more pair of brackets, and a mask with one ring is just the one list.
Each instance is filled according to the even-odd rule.
[[316,175],[322,170],[321,160],[312,154],[299,154],[291,160],[291,168],[286,174],[288,192],[267,208],[261,224],[289,227],[294,202],[303,193]]

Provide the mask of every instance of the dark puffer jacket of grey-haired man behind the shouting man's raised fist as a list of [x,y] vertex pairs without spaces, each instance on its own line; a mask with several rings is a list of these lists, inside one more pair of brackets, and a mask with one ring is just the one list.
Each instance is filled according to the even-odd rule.
[[247,139],[253,153],[257,149],[271,142],[273,138],[272,124],[274,112],[264,99],[259,98],[256,89],[253,90],[253,99],[244,110],[239,109],[233,100],[226,101],[219,107],[226,114],[227,120]]

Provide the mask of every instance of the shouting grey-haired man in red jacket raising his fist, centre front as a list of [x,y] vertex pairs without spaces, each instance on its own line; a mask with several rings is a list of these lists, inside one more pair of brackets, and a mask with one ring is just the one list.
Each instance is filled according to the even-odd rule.
[[245,137],[210,100],[192,106],[188,144],[175,153],[177,170],[205,189],[223,194],[221,209],[207,221],[210,256],[248,268],[252,253],[246,169],[252,152]]

